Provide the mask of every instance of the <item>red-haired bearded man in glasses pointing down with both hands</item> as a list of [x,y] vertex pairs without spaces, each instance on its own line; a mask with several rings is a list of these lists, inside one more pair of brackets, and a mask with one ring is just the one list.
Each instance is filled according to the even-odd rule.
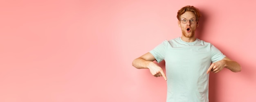
[[[195,38],[199,26],[198,8],[186,6],[177,13],[181,37],[165,40],[150,52],[132,62],[138,69],[148,68],[155,77],[167,80],[166,102],[209,102],[209,72],[218,73],[224,67],[240,72],[240,65],[222,54],[211,43]],[[166,75],[158,63],[165,60]],[[212,63],[212,64],[211,64]]]

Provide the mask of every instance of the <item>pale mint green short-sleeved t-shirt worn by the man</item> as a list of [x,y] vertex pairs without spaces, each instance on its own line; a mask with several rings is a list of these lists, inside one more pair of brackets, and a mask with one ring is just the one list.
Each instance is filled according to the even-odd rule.
[[220,50],[200,39],[185,42],[178,37],[163,41],[150,53],[158,63],[165,61],[166,102],[209,102],[206,72],[211,63],[226,57]]

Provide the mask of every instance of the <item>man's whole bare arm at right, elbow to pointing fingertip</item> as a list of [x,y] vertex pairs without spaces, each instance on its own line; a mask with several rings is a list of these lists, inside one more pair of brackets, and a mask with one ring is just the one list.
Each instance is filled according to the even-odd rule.
[[231,70],[232,72],[241,71],[241,66],[236,61],[232,61],[228,57],[225,57],[224,59],[216,63],[212,63],[209,69],[207,70],[207,74],[209,74],[210,71],[213,73],[220,72],[224,67]]

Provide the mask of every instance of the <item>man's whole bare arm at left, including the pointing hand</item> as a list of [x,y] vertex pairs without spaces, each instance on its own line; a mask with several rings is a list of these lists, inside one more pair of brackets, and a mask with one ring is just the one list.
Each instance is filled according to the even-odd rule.
[[139,58],[132,61],[132,66],[136,67],[137,69],[146,69],[150,70],[150,73],[155,76],[163,76],[165,80],[167,80],[164,71],[159,65],[155,64],[155,57],[151,53],[146,53]]

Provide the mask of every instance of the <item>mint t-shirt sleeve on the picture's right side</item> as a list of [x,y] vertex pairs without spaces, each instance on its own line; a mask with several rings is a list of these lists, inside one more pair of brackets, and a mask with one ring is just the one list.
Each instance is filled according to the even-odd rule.
[[220,61],[220,60],[222,60],[225,57],[226,56],[224,54],[222,54],[222,52],[220,52],[220,50],[218,48],[216,48],[215,46],[211,45],[211,62],[212,63]]

